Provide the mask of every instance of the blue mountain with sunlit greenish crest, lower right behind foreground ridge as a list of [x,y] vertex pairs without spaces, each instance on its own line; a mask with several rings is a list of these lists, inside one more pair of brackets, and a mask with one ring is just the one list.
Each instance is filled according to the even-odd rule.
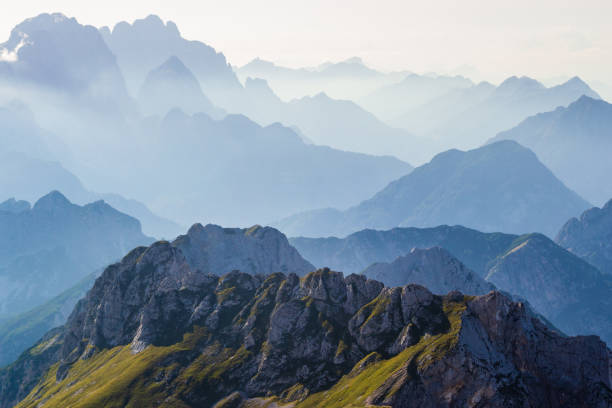
[[612,277],[540,234],[519,237],[486,280],[526,300],[565,333],[612,344]]

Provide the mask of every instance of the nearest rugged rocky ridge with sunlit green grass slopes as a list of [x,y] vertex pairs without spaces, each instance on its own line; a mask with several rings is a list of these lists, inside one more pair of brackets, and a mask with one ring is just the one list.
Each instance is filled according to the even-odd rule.
[[0,407],[606,407],[610,362],[596,337],[562,337],[497,292],[328,269],[219,277],[158,242],[0,371]]

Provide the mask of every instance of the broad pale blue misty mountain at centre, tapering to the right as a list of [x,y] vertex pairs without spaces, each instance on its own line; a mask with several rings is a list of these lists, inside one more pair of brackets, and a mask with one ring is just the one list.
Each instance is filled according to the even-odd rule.
[[173,110],[144,122],[138,140],[151,153],[123,163],[133,177],[118,175],[119,191],[185,225],[245,226],[296,209],[348,207],[412,169],[392,157],[308,145],[278,123],[261,127],[241,115],[217,121]]

